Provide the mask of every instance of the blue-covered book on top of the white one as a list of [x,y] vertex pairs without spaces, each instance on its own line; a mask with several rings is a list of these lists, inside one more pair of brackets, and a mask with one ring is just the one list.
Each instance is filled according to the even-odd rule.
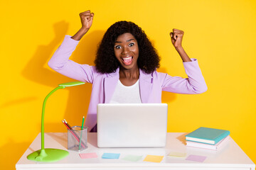
[[186,140],[193,142],[201,142],[210,145],[215,145],[220,140],[223,140],[225,137],[230,135],[230,131],[228,130],[219,130],[213,128],[198,128],[193,132],[186,135]]

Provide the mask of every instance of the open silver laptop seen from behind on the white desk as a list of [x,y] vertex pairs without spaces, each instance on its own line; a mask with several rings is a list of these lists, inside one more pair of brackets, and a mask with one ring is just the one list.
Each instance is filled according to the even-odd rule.
[[98,147],[165,147],[166,103],[97,105]]

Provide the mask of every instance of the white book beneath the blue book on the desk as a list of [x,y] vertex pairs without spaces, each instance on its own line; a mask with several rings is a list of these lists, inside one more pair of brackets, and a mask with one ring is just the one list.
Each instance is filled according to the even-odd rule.
[[204,144],[204,143],[200,143],[200,142],[186,141],[186,146],[217,150],[220,147],[223,147],[223,145],[225,145],[227,143],[228,139],[229,139],[229,136],[225,137],[223,140],[220,140],[220,142],[218,142],[215,145],[208,145],[208,144]]

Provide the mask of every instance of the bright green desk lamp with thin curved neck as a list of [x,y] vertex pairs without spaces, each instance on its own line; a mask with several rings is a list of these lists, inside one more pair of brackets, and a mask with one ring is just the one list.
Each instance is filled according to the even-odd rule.
[[50,91],[50,94],[46,96],[46,98],[43,101],[43,111],[42,111],[42,119],[41,119],[41,149],[31,153],[28,155],[28,159],[31,161],[36,162],[56,162],[60,159],[63,159],[68,156],[69,152],[62,150],[62,149],[53,149],[53,148],[44,148],[44,113],[46,108],[46,101],[49,98],[51,94],[53,94],[58,89],[64,89],[67,86],[78,86],[81,84],[85,84],[81,81],[75,81],[75,82],[69,82],[69,83],[63,83],[59,84],[58,87],[53,89],[53,91]]

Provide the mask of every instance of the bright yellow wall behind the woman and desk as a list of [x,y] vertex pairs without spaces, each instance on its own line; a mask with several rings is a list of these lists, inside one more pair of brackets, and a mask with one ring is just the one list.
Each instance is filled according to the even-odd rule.
[[[256,162],[256,1],[1,1],[0,162],[15,164],[41,132],[45,96],[57,84],[73,81],[47,65],[64,35],[80,28],[79,13],[95,13],[72,60],[93,64],[97,44],[112,23],[141,26],[161,55],[159,71],[186,77],[171,44],[172,28],[184,30],[183,47],[198,59],[208,91],[199,95],[163,94],[169,104],[169,132],[198,127],[230,130]],[[46,106],[46,132],[65,132],[61,120],[80,125],[90,100],[90,84],[55,92]],[[39,148],[38,148],[39,149]]]

